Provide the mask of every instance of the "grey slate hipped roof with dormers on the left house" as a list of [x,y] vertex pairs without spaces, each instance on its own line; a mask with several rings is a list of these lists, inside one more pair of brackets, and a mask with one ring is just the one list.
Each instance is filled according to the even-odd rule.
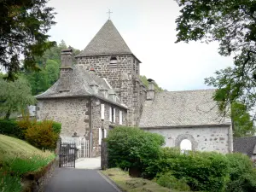
[[[48,98],[61,98],[61,97],[76,97],[76,96],[96,96],[118,105],[122,108],[127,108],[123,103],[120,102],[119,97],[117,96],[116,101],[114,102],[112,97],[108,96],[105,98],[100,90],[108,90],[108,92],[114,92],[112,87],[108,84],[106,79],[98,77],[96,74],[89,73],[84,65],[74,65],[73,73],[71,79],[71,87],[69,91],[59,91],[57,89],[58,84],[60,84],[60,79],[53,84],[49,90],[46,90],[44,93],[36,96],[37,99],[48,99]],[[90,86],[91,84],[98,85],[98,93],[95,94],[94,90]]]

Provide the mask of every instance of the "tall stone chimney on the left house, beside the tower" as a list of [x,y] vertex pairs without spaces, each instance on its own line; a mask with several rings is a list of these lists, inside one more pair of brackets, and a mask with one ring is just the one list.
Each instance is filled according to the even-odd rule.
[[73,73],[72,52],[72,49],[61,50],[60,82],[57,87],[60,92],[70,90],[70,81]]

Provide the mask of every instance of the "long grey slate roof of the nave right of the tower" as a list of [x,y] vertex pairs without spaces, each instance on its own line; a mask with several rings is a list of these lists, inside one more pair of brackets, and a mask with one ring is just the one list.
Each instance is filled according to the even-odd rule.
[[213,102],[214,90],[163,91],[146,101],[139,127],[230,125]]

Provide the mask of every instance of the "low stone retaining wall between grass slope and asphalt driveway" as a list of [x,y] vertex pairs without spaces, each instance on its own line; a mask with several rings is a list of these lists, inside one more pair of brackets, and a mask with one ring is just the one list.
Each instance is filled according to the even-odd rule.
[[22,179],[21,192],[44,192],[44,185],[58,166],[58,160],[53,160],[39,172],[26,174]]

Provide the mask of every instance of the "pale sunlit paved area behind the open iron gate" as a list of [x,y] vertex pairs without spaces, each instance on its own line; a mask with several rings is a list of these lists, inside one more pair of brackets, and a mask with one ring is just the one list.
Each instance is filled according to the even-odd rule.
[[76,169],[101,169],[101,157],[79,158],[76,160]]

